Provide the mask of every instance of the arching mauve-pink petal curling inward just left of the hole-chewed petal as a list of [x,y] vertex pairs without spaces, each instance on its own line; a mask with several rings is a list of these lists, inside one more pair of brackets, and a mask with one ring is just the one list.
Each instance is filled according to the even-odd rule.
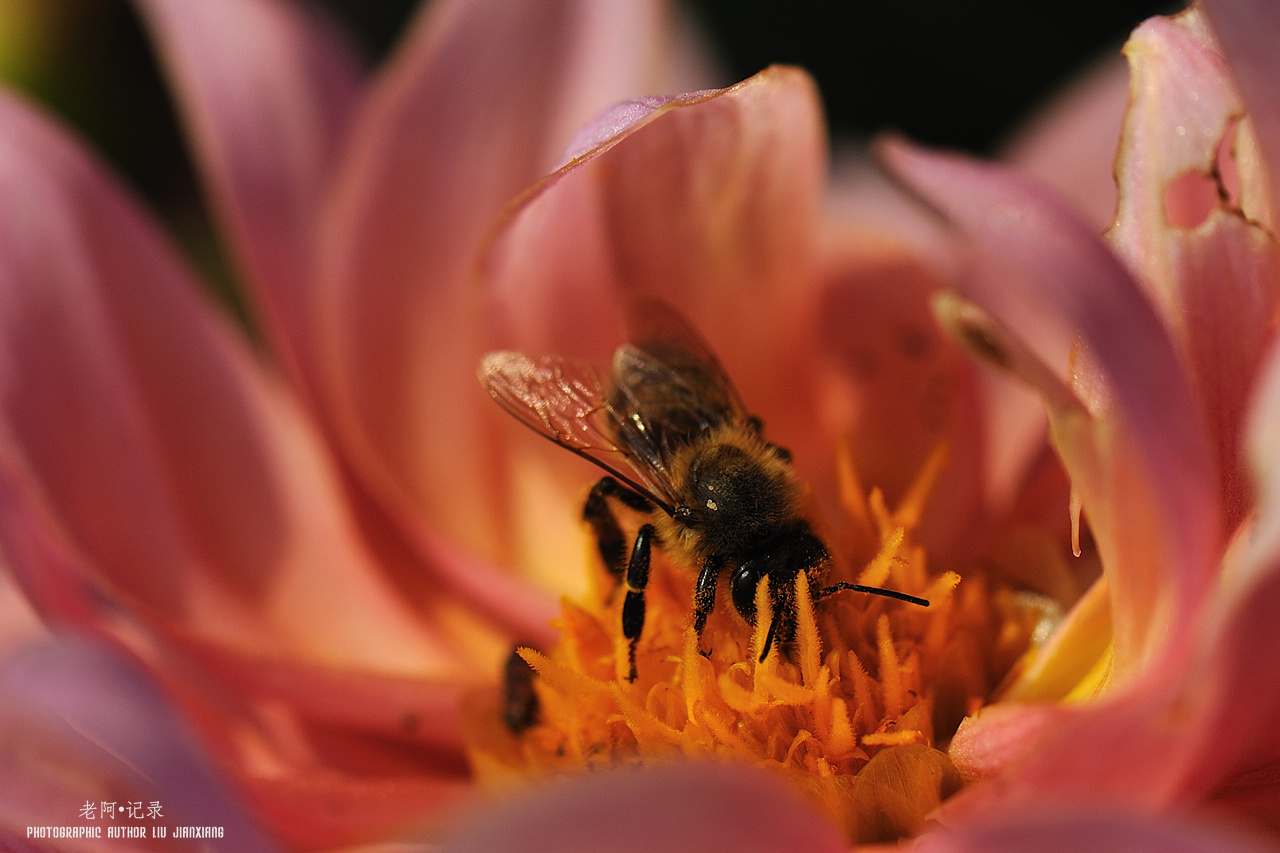
[[1101,420],[1050,414],[1111,583],[1115,674],[1185,654],[1221,546],[1204,434],[1185,418],[1194,403],[1158,319],[1091,229],[1028,182],[905,145],[886,154],[998,270],[998,307],[1079,329],[1111,409]]

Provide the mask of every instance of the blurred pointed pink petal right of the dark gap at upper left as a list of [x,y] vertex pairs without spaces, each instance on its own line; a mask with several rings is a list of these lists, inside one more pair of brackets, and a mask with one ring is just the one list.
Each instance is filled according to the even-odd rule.
[[287,364],[310,346],[320,201],[356,104],[347,45],[289,0],[138,0],[221,228]]

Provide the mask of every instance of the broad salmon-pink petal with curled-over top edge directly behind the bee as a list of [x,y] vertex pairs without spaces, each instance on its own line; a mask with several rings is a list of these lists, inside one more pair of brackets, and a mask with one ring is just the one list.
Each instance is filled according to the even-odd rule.
[[[710,341],[771,439],[829,476],[829,439],[823,453],[806,446],[824,172],[812,81],[773,68],[608,114],[584,138],[596,147],[526,193],[495,232],[485,264],[492,345],[607,360],[622,300],[660,296]],[[571,471],[566,500],[580,501],[591,474],[544,444],[511,441]]]

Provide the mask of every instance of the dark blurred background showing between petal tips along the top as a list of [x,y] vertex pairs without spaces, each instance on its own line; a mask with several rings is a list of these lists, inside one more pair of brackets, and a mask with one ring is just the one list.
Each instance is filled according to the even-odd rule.
[[[200,1],[200,0],[192,0]],[[308,0],[372,64],[419,0]],[[513,0],[518,1],[518,0]],[[893,128],[979,154],[1167,3],[684,0],[723,82],[771,63],[818,79],[833,134]],[[0,0],[0,77],[93,141],[212,277],[219,259],[155,59],[123,0]]]

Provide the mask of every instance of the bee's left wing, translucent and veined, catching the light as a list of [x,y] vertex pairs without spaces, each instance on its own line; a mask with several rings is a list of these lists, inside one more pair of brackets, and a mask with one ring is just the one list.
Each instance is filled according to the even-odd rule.
[[671,514],[680,503],[664,457],[644,425],[609,405],[599,371],[590,364],[518,352],[490,352],[480,382],[521,423],[561,447],[595,462],[617,480]]

